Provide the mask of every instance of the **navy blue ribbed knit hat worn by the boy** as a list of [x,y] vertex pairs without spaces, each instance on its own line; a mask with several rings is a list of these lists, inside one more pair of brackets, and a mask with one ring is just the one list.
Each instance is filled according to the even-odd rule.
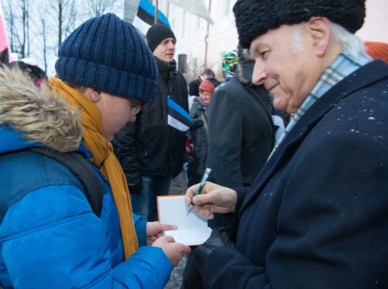
[[150,102],[157,88],[157,66],[131,23],[113,13],[91,18],[59,47],[55,63],[61,80],[119,97]]

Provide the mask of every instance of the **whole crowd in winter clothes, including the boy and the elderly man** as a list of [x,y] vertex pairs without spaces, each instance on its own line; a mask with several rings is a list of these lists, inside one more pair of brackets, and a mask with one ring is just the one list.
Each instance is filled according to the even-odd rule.
[[[188,84],[170,27],[113,13],[55,77],[1,65],[1,288],[164,288],[185,254],[187,289],[388,287],[388,44],[354,35],[365,1],[234,15],[223,80]],[[198,247],[157,221],[176,194],[209,219]]]

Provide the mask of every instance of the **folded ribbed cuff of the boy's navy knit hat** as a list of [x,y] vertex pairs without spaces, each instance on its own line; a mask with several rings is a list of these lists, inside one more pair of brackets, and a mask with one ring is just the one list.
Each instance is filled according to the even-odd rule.
[[[62,56],[56,61],[55,68],[61,80],[101,90],[117,97],[139,99],[143,104],[150,102],[157,87],[156,80],[83,59]],[[122,85],[123,83],[125,85]]]

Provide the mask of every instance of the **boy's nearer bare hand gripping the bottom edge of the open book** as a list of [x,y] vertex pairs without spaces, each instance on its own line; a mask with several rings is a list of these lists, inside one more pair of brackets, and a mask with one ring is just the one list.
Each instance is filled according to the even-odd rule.
[[158,238],[152,246],[162,248],[173,268],[181,261],[183,254],[190,253],[190,247],[175,242],[174,238],[171,236],[162,236]]

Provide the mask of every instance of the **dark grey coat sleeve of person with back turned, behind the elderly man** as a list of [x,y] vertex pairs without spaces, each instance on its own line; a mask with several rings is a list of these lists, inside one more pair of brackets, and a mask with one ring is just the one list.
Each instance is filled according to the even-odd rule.
[[219,89],[210,102],[208,117],[207,166],[215,183],[243,187],[241,144],[243,119],[241,102],[233,92]]

